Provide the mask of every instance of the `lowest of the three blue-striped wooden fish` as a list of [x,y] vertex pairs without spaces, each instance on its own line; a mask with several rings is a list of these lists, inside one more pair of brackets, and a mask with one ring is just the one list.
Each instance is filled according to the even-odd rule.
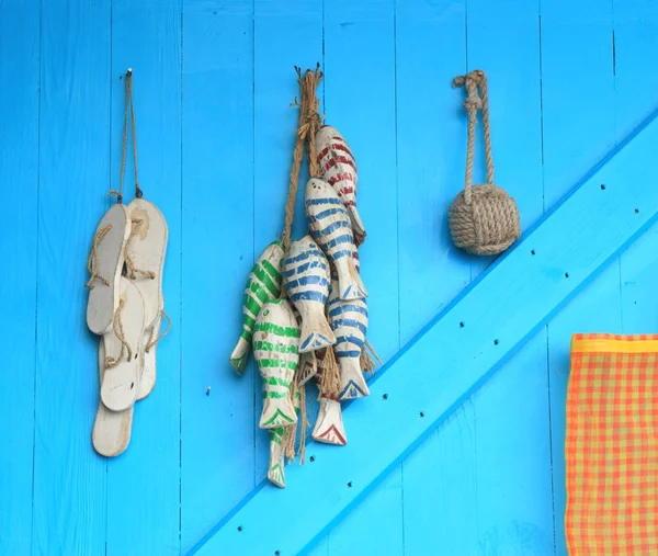
[[361,368],[361,350],[367,333],[367,305],[365,299],[343,300],[336,281],[327,303],[329,326],[336,334],[333,353],[340,367],[339,399],[362,398],[370,395]]

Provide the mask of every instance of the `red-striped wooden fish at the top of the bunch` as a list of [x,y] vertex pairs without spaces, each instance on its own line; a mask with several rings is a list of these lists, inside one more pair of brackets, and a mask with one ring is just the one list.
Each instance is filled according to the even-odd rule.
[[317,160],[324,178],[345,205],[352,219],[356,245],[365,239],[365,227],[356,209],[359,184],[356,160],[343,136],[334,127],[324,125],[316,134]]

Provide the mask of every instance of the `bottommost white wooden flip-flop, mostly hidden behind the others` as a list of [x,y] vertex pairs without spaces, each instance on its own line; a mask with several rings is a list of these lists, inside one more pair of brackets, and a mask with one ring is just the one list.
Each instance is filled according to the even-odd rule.
[[[99,340],[99,384],[103,384],[104,373],[105,342],[101,338]],[[93,447],[99,454],[105,457],[115,457],[128,447],[133,430],[133,410],[134,408],[129,407],[125,411],[110,411],[99,400],[99,410],[91,433]]]

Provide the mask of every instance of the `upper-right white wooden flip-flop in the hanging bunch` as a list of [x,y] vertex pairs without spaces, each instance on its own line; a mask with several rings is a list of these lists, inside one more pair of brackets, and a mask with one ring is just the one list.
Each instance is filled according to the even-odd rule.
[[128,277],[139,288],[146,310],[145,329],[150,329],[164,306],[162,268],[169,230],[156,205],[135,198],[128,205],[132,230],[126,242],[125,260]]

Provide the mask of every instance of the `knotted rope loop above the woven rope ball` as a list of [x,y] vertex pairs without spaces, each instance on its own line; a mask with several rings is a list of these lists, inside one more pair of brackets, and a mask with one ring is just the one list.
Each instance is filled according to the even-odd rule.
[[485,158],[487,161],[487,183],[494,184],[494,155],[491,154],[491,126],[489,124],[489,97],[487,94],[487,76],[476,69],[453,80],[454,87],[465,87],[467,97],[464,107],[468,112],[468,143],[466,148],[466,179],[464,183],[464,201],[469,205],[473,201],[473,160],[475,158],[475,127],[477,111],[483,111],[483,134],[485,139]]

